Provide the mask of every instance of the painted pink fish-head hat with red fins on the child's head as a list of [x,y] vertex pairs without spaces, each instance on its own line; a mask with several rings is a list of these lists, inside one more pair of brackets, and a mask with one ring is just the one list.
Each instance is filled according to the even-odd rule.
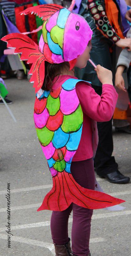
[[44,20],[39,45],[26,35],[12,33],[1,40],[7,42],[8,48],[15,48],[14,53],[21,53],[20,60],[32,63],[29,74],[34,83],[35,92],[43,85],[45,61],[62,63],[68,61],[70,69],[75,66],[92,38],[92,30],[87,21],[58,4],[33,6],[20,12],[21,15],[36,14]]

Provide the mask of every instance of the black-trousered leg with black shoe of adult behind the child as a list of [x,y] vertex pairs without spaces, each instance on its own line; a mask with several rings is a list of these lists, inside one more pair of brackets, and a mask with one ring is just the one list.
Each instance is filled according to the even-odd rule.
[[[94,86],[95,92],[102,93],[100,86]],[[99,143],[95,155],[96,173],[107,178],[112,183],[126,184],[130,178],[118,171],[118,164],[115,162],[113,153],[112,119],[108,122],[98,122]]]

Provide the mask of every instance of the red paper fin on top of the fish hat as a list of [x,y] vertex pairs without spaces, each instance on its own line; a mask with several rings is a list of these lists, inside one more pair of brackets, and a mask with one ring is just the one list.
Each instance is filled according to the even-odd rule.
[[36,14],[42,20],[47,20],[50,18],[55,12],[63,9],[64,7],[59,4],[42,4],[33,7],[29,7],[24,11],[20,12],[21,15],[27,15],[31,12],[31,14]]

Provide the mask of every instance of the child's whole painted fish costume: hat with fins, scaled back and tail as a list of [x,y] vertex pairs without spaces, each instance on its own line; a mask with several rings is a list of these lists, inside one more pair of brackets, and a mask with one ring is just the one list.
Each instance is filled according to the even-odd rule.
[[53,179],[53,187],[37,211],[63,211],[72,202],[89,209],[123,203],[125,201],[122,199],[81,187],[72,177],[71,162],[80,142],[83,125],[83,112],[75,90],[81,80],[69,78],[53,91],[41,89],[45,61],[68,61],[72,69],[93,32],[83,17],[57,4],[30,7],[21,14],[30,12],[44,20],[39,46],[28,36],[18,33],[4,36],[2,40],[8,43],[7,47],[15,48],[14,53],[21,53],[21,60],[32,63],[29,73],[36,92],[34,123]]

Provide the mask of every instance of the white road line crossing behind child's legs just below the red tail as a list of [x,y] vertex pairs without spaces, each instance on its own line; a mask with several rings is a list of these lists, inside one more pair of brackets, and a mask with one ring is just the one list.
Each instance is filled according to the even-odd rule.
[[[119,212],[93,214],[92,220],[110,218],[110,217],[122,216],[122,215],[129,215],[129,214],[131,214],[131,210],[122,211],[122,212],[119,211]],[[72,218],[69,218],[68,222],[71,223]],[[44,226],[50,226],[50,221],[36,222],[36,223],[30,223],[30,224],[24,224],[24,225],[16,225],[16,226],[12,226],[11,230],[24,229],[24,228],[38,228],[38,227],[44,227]],[[0,228],[0,232],[4,232],[4,231],[5,231],[5,227]]]

